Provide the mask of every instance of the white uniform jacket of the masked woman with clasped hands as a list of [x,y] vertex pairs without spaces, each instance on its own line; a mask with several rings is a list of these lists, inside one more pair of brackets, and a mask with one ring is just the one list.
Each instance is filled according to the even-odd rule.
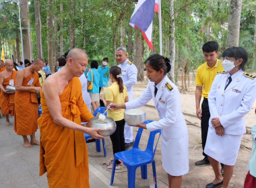
[[251,110],[256,98],[256,79],[246,77],[239,71],[226,90],[229,73],[216,75],[208,95],[212,126],[212,118],[220,118],[226,134],[245,134],[245,115]]

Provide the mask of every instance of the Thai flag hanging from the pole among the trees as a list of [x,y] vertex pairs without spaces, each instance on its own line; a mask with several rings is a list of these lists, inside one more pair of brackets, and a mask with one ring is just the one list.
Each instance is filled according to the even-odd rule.
[[151,50],[154,11],[158,12],[158,0],[139,0],[129,23],[133,28],[141,30]]

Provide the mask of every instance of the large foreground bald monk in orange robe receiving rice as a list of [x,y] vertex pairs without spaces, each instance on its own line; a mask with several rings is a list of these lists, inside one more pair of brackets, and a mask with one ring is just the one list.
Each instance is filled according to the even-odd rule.
[[40,173],[47,172],[49,187],[90,187],[88,152],[84,132],[102,139],[99,128],[81,126],[94,117],[84,103],[79,81],[86,71],[88,56],[70,50],[61,71],[48,77],[41,91]]

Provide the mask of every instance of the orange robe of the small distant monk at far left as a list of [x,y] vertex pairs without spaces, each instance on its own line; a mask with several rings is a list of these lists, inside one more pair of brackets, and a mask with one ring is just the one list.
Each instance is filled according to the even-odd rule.
[[[3,80],[3,87],[7,87],[9,85],[9,81],[13,79],[13,83],[15,83],[17,71],[12,71],[11,75]],[[14,115],[14,96],[15,93],[13,94],[7,94],[1,91],[1,113],[3,115],[8,115],[11,114],[11,116]]]

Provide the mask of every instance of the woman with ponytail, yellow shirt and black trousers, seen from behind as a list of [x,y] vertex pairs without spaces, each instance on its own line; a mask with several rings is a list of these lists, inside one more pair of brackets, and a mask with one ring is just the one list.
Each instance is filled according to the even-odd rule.
[[[129,101],[127,88],[123,85],[121,68],[118,66],[112,66],[109,70],[109,79],[111,79],[113,85],[110,85],[106,89],[106,106],[110,103],[122,104]],[[124,119],[124,110],[119,109],[116,111],[108,111],[108,117],[113,118],[117,124],[117,129],[115,132],[110,135],[110,139],[113,145],[113,154],[116,152],[121,152],[125,150],[125,119]],[[120,169],[121,162],[117,161],[116,170]],[[113,164],[106,164],[106,168],[112,169]]]

